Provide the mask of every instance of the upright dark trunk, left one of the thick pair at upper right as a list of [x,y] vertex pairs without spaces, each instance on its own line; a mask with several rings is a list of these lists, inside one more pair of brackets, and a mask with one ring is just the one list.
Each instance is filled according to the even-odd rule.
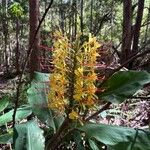
[[124,0],[121,63],[124,63],[126,60],[128,60],[131,55],[131,34],[132,34],[131,27],[132,27],[132,0]]

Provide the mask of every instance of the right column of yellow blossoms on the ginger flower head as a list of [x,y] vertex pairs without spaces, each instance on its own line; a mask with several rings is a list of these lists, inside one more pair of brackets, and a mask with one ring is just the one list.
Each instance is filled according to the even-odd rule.
[[[96,87],[94,85],[94,82],[97,79],[97,75],[94,72],[94,67],[96,65],[96,59],[97,56],[99,55],[97,53],[97,48],[100,46],[100,44],[96,41],[96,38],[92,38],[91,35],[89,35],[89,41],[84,43],[83,45],[83,54],[84,54],[84,63],[82,64],[85,65],[83,72],[86,71],[86,74],[83,77],[83,82],[84,86],[82,88],[83,94],[80,94],[80,96],[75,96],[77,99],[80,98],[80,101],[82,105],[86,106],[93,106],[95,103],[95,92],[96,92]],[[79,66],[81,63],[79,64]],[[79,73],[76,75],[79,75]],[[77,80],[81,80],[82,78],[79,79],[79,77],[76,77]],[[76,83],[79,81],[76,81]],[[77,86],[75,86],[77,87]],[[78,90],[79,87],[77,88],[77,93],[79,94],[80,91]],[[81,96],[82,95],[82,96]],[[84,96],[83,96],[84,95]],[[82,99],[82,100],[81,100]]]

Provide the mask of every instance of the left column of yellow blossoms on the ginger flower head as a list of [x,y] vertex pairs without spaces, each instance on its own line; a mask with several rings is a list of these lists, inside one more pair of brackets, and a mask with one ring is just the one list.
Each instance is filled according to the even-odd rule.
[[48,95],[49,107],[51,109],[65,111],[67,105],[64,97],[68,80],[66,79],[66,62],[68,57],[68,39],[63,37],[60,32],[56,33],[54,43],[53,64],[55,66],[53,74],[50,75],[50,93]]

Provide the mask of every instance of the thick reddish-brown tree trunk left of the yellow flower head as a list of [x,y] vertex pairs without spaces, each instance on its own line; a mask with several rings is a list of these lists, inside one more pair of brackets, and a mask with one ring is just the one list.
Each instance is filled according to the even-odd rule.
[[[40,35],[37,34],[34,39],[37,27],[39,25],[39,0],[29,0],[29,17],[30,17],[30,33],[29,33],[29,47],[32,47],[32,52],[30,55],[29,68],[30,68],[30,77],[33,78],[35,71],[40,71],[39,64],[39,44],[40,44]],[[34,43],[33,43],[34,42]]]

